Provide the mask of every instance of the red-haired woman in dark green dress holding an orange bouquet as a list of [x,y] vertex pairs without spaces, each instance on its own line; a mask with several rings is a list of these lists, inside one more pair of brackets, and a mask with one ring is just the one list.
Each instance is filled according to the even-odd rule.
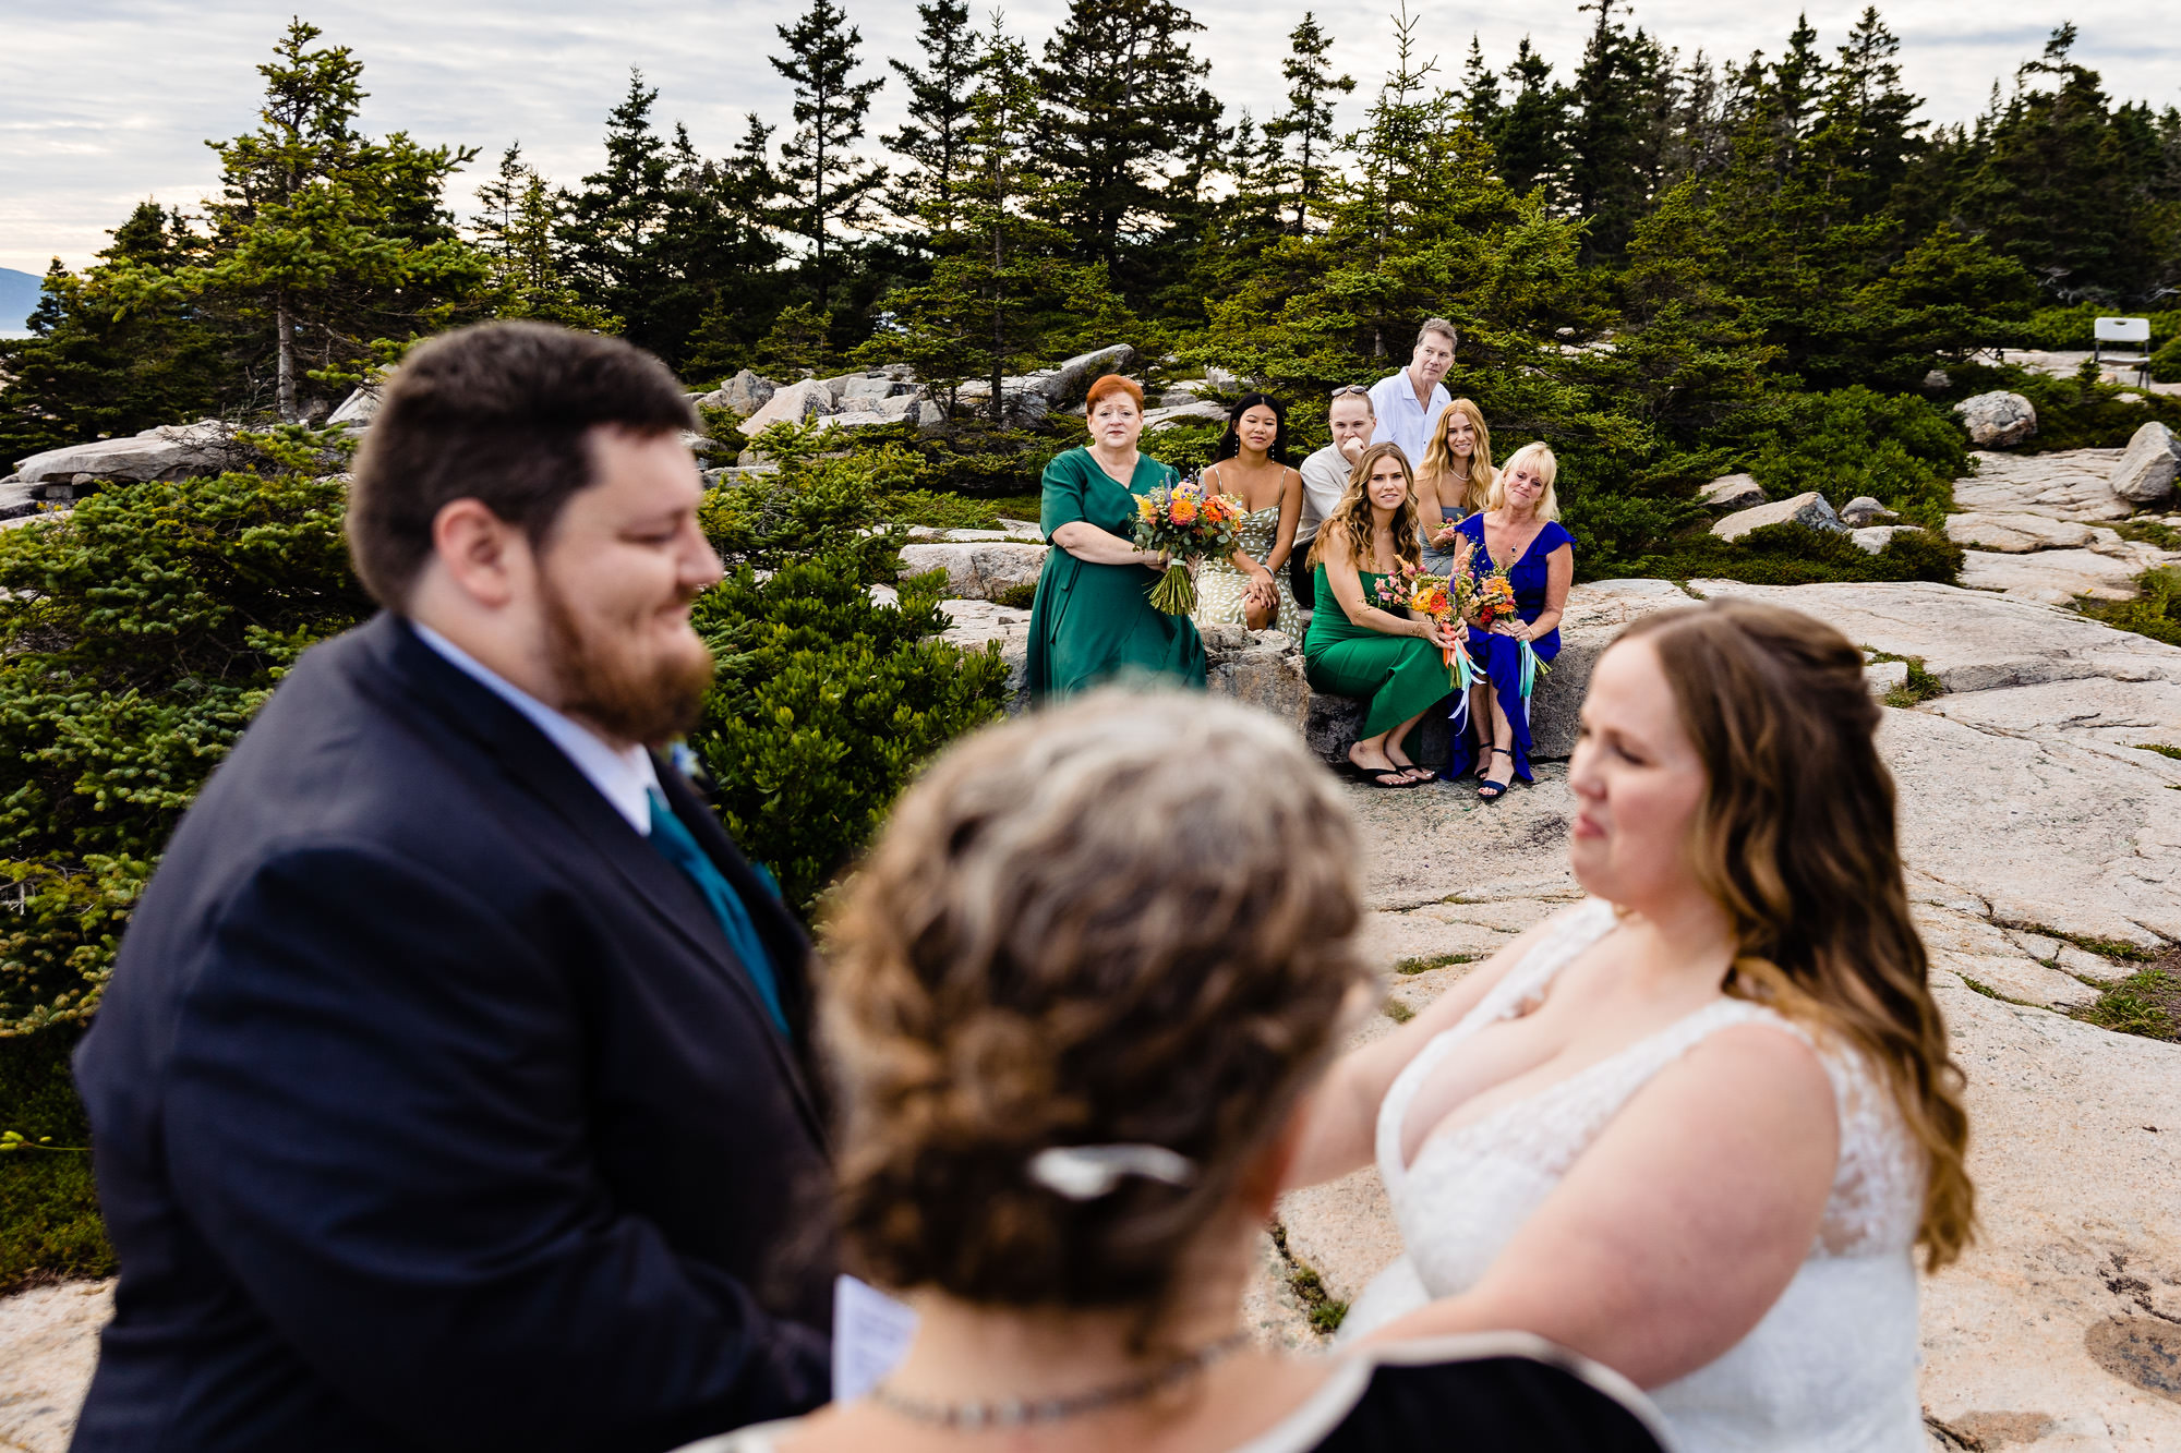
[[1108,373],[1090,384],[1090,445],[1045,467],[1040,526],[1051,550],[1029,609],[1032,700],[1071,696],[1114,676],[1204,685],[1204,639],[1186,615],[1152,607],[1167,567],[1130,541],[1136,497],[1173,484],[1169,465],[1136,452],[1143,388]]

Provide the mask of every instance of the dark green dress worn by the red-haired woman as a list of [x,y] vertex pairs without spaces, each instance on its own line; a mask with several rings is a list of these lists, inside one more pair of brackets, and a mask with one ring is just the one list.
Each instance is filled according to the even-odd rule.
[[[1138,454],[1136,473],[1121,489],[1090,458],[1090,449],[1069,449],[1045,467],[1038,526],[1047,541],[1075,519],[1130,539],[1136,530],[1136,497],[1173,480],[1169,465]],[[1136,674],[1202,687],[1204,637],[1186,615],[1152,609],[1158,576],[1149,565],[1093,565],[1060,545],[1047,550],[1038,598],[1029,607],[1029,698],[1060,698]]]

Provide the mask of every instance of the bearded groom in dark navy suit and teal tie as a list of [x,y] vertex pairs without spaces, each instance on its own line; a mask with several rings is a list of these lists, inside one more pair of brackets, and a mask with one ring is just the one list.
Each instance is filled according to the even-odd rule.
[[76,1449],[672,1449],[827,1396],[807,942],[654,750],[720,578],[624,343],[410,353],[386,611],[168,844],[76,1056],[113,1324]]

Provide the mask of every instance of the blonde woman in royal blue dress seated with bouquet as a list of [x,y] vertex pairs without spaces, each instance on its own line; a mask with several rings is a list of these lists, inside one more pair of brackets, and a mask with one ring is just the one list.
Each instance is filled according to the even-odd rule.
[[1470,733],[1455,737],[1453,777],[1470,766],[1483,783],[1477,796],[1498,801],[1529,772],[1529,694],[1522,689],[1522,641],[1538,661],[1559,655],[1559,615],[1575,583],[1575,537],[1559,528],[1559,497],[1553,476],[1559,460],[1542,443],[1514,452],[1492,482],[1492,508],[1470,515],[1457,528],[1470,537],[1470,574],[1483,578],[1511,563],[1518,620],[1490,631],[1470,626],[1470,661],[1481,670],[1470,692]]

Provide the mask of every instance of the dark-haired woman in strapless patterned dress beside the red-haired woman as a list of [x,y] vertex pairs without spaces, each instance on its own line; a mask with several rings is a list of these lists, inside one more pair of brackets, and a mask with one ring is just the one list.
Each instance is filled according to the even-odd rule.
[[1287,415],[1263,393],[1245,393],[1204,471],[1206,493],[1243,502],[1241,539],[1226,561],[1197,572],[1197,626],[1278,626],[1302,637],[1302,611],[1287,585],[1287,552],[1302,519],[1302,476],[1287,467]]

